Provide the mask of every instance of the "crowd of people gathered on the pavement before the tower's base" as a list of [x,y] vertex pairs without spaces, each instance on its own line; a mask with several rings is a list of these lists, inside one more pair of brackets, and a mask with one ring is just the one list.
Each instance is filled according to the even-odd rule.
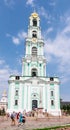
[[8,120],[8,117],[10,117],[11,119],[11,125],[12,126],[20,126],[20,125],[23,125],[25,124],[26,122],[26,118],[27,117],[34,117],[36,120],[38,117],[48,117],[48,113],[47,112],[42,112],[41,110],[32,110],[32,111],[29,111],[29,112],[26,112],[25,110],[22,112],[18,112],[16,113],[15,111],[13,111],[11,114],[7,113],[6,114],[6,117],[7,117],[7,120]]

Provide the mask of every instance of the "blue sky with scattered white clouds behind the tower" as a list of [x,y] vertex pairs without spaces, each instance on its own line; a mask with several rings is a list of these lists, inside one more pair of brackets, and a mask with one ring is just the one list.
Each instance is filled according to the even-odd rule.
[[60,78],[60,96],[70,101],[70,0],[0,0],[0,97],[11,74],[22,72],[29,16],[41,19],[47,76]]

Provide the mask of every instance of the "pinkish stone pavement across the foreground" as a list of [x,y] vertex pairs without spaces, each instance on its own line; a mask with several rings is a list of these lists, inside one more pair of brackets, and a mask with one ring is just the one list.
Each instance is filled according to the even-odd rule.
[[[51,126],[59,126],[70,124],[70,116],[63,116],[63,117],[46,117],[46,118],[34,118],[34,117],[27,117],[26,123],[21,126],[11,126],[11,119],[8,118],[0,118],[0,130],[33,130],[36,128],[47,128]],[[67,130],[67,129],[65,129]],[[70,128],[68,128],[70,130]]]

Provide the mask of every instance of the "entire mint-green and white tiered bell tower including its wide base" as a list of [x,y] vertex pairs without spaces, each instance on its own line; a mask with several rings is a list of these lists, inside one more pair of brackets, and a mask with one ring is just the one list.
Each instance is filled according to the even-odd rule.
[[25,46],[22,75],[9,77],[8,112],[42,108],[49,114],[60,115],[60,82],[58,77],[46,75],[44,40],[36,12],[29,17]]

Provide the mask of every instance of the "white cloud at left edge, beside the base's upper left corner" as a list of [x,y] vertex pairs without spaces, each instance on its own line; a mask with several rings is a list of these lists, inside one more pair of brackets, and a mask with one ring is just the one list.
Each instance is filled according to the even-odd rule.
[[4,89],[8,90],[8,80],[9,76],[12,74],[19,74],[17,70],[12,70],[4,60],[0,60],[0,96],[2,95]]

